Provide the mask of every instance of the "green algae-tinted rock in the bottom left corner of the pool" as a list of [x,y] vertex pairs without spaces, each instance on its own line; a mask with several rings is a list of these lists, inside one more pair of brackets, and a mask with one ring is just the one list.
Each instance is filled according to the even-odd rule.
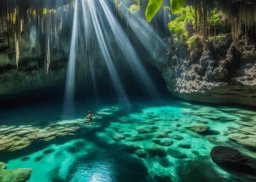
[[30,168],[6,170],[5,163],[0,162],[0,182],[26,182],[32,173]]

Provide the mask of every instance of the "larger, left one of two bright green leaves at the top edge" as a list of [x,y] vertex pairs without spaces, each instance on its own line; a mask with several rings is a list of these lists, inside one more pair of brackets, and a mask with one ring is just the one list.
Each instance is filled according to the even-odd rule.
[[145,12],[146,19],[148,22],[151,22],[152,18],[160,9],[162,4],[163,4],[163,0],[149,0],[148,6]]

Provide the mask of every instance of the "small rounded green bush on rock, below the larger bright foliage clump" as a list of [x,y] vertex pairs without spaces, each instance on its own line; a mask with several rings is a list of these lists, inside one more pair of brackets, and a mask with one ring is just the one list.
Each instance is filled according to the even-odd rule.
[[206,41],[198,34],[193,35],[186,41],[189,51],[199,51],[202,49],[206,43]]

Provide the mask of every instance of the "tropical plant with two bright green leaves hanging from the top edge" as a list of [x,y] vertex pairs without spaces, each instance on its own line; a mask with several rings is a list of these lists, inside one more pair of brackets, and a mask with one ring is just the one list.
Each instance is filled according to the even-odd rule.
[[[171,0],[171,10],[173,14],[177,14],[183,8],[186,0]],[[154,15],[160,9],[163,0],[149,0],[148,6],[145,11],[145,17],[148,22],[151,22]]]

